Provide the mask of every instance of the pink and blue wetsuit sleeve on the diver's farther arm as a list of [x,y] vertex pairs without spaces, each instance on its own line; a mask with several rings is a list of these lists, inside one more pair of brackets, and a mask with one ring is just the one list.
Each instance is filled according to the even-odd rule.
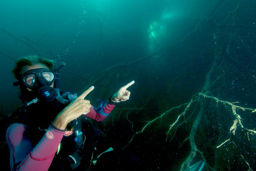
[[90,112],[87,113],[85,116],[88,118],[92,118],[96,121],[103,121],[108,116],[108,114],[114,109],[115,105],[110,104],[109,101],[100,102],[101,103],[98,108],[91,106]]

